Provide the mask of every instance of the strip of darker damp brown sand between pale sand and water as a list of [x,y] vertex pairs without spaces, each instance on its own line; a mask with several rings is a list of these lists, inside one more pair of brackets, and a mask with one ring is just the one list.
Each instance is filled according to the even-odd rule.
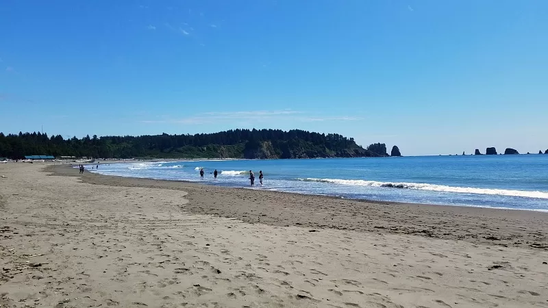
[[[77,170],[66,165],[47,166],[44,171],[53,172],[53,175],[79,177],[84,183],[97,185],[182,190],[188,192],[186,198],[190,201],[184,206],[184,211],[237,218],[249,223],[403,233],[475,244],[548,250],[548,213],[545,211],[369,201],[92,172],[79,175]],[[210,202],[212,200],[214,202]],[[277,206],[272,206],[269,201],[275,201]],[[261,214],[253,215],[254,212]],[[481,222],[478,223],[478,220]],[[508,224],[496,224],[495,220]],[[444,228],[449,228],[449,231],[444,231]]]

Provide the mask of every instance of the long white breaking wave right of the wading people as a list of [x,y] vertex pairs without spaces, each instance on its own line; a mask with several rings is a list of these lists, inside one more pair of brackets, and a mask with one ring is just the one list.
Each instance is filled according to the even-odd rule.
[[338,185],[369,186],[384,188],[406,188],[410,190],[429,190],[433,192],[456,192],[461,194],[491,194],[499,196],[519,196],[525,198],[548,199],[548,192],[527,191],[527,190],[499,190],[493,188],[471,188],[447,185],[436,185],[427,183],[391,183],[364,180],[345,179],[297,179],[305,182],[334,183]]

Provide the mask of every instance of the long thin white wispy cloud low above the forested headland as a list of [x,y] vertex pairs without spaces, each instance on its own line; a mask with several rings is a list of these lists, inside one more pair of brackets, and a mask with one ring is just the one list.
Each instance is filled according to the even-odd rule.
[[260,110],[249,112],[206,112],[186,118],[160,118],[155,120],[141,120],[141,123],[172,123],[184,125],[200,125],[208,123],[242,123],[259,122],[264,120],[290,120],[299,122],[359,120],[353,116],[320,116],[307,114],[295,110]]

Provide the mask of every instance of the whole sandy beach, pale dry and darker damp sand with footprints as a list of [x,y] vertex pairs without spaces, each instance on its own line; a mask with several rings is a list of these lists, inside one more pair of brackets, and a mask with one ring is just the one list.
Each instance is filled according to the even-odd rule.
[[0,165],[1,307],[548,307],[544,213],[44,166]]

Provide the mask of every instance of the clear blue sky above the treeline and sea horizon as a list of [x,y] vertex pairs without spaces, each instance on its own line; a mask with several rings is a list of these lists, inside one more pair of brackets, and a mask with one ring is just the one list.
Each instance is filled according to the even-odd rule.
[[[0,3],[0,131],[548,148],[548,1]],[[500,150],[499,150],[500,151]]]

